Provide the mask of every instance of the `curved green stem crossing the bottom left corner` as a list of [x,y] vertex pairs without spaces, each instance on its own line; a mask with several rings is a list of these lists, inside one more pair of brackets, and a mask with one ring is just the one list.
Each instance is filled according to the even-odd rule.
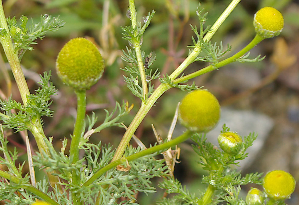
[[[11,182],[15,184],[20,184],[21,180],[15,176],[10,175],[9,173],[6,173],[4,171],[0,170],[0,176],[6,178],[7,180],[10,180]],[[51,205],[60,205],[56,201],[54,201],[51,197],[46,195],[44,192],[40,191],[39,189],[36,189],[34,186],[31,185],[19,185],[19,189],[26,189],[27,191],[32,192],[36,196],[42,198],[43,200],[47,201]]]

